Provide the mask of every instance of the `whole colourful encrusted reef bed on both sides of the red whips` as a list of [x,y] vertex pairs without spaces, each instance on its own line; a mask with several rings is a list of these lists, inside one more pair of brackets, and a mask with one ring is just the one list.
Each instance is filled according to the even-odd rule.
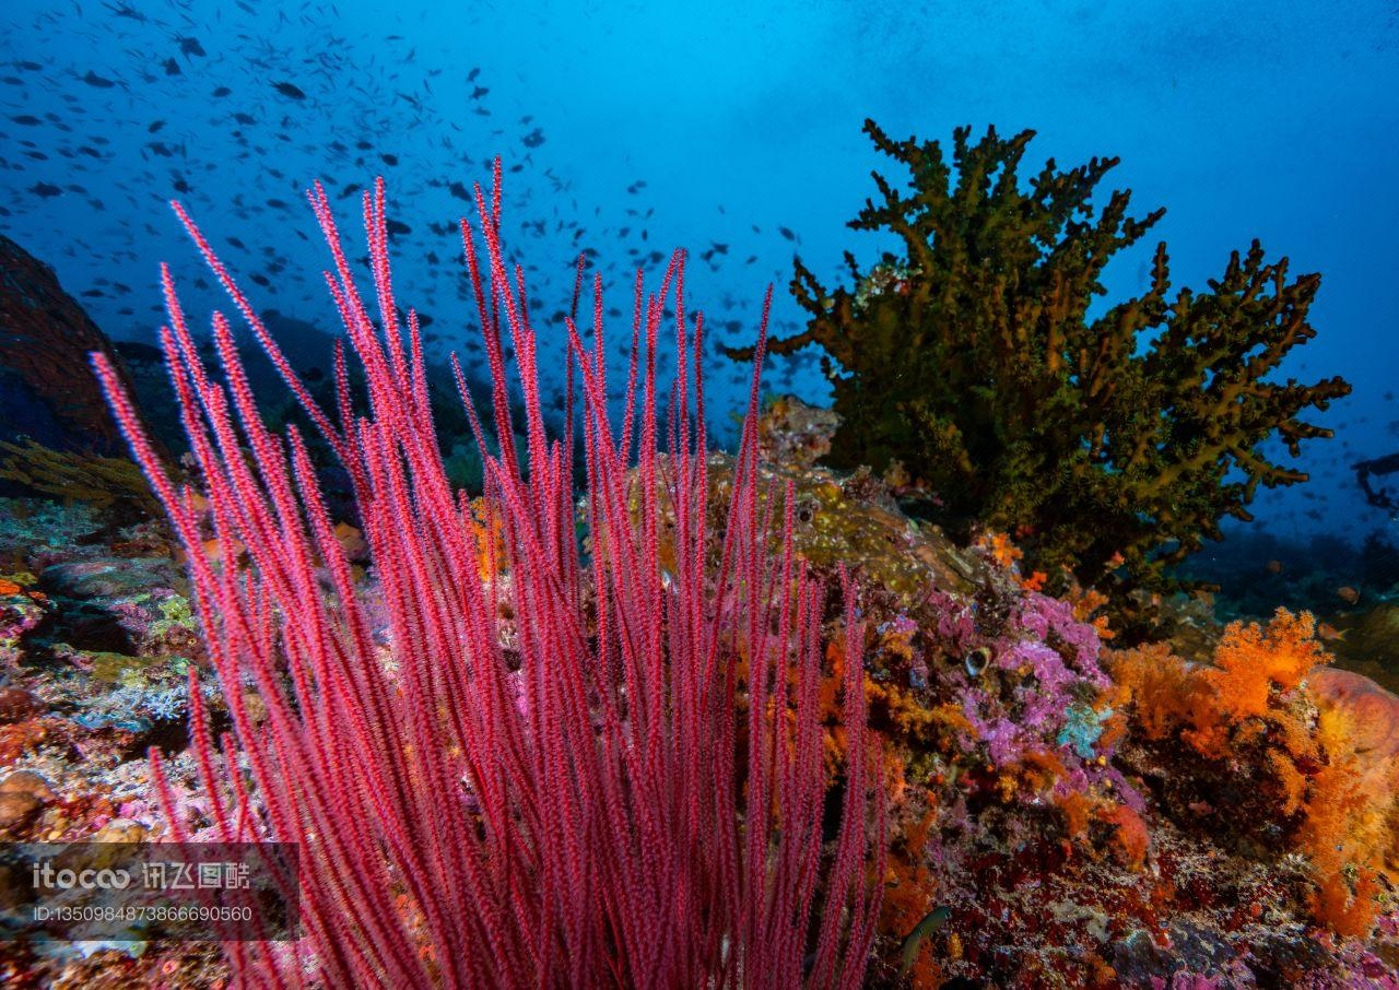
[[[802,428],[783,415],[764,432],[783,424]],[[709,460],[709,517],[722,520],[732,503],[733,461],[719,454]],[[1195,671],[1234,670],[1226,680],[1240,678],[1241,691],[1230,696],[1251,695],[1254,710],[1258,681],[1247,671],[1249,659],[1279,652],[1281,659],[1263,657],[1262,667],[1274,671],[1265,715],[1244,719],[1224,737],[1224,762],[1207,759],[1181,736],[1193,727],[1196,710],[1202,726],[1217,724],[1209,713],[1223,712],[1161,695],[1167,712],[1185,715],[1160,726],[1142,722],[1137,681],[1121,670],[1132,653],[1112,650],[1114,640],[1104,639],[1111,631],[1093,624],[1091,596],[1059,601],[1027,590],[1031,576],[1020,572],[1007,541],[958,547],[904,516],[867,475],[837,477],[797,461],[761,464],[760,498],[774,492],[772,512],[782,517],[790,482],[799,552],[823,569],[830,561],[848,564],[865,626],[856,649],[865,657],[869,727],[883,749],[888,859],[867,984],[1393,986],[1399,909],[1384,894],[1389,870],[1375,877],[1381,894],[1372,901],[1378,914],[1368,938],[1319,924],[1318,913],[1326,916],[1329,908],[1318,898],[1322,870],[1336,870],[1344,884],[1342,910],[1354,909],[1350,884],[1358,874],[1344,863],[1336,868],[1312,859],[1298,828],[1304,812],[1283,814],[1286,779],[1269,755],[1336,749],[1343,762],[1353,761],[1363,789],[1379,793],[1396,766],[1399,703],[1391,695],[1329,667],[1312,668],[1284,691],[1273,677],[1293,684],[1290,671],[1323,659],[1302,635],[1305,625],[1295,617],[1272,633],[1245,625],[1230,638],[1233,653],[1219,667],[1165,657],[1156,664],[1181,674],[1182,687],[1195,682]],[[658,460],[662,475],[665,463]],[[171,548],[164,548],[164,565],[127,566],[125,561],[162,552],[147,527],[101,537],[80,506],[27,502],[20,512],[20,503],[0,503],[6,506],[0,566],[21,594],[45,600],[42,626],[20,636],[22,660],[0,689],[0,793],[8,793],[7,769],[42,777],[13,784],[24,797],[0,797],[0,812],[11,808],[14,815],[15,838],[91,838],[108,828],[166,836],[145,758],[152,742],[165,754],[164,772],[183,819],[207,822],[199,763],[178,712],[173,720],[154,717],[162,701],[172,701],[171,685],[187,677],[179,654],[161,653],[183,645],[186,624],[185,598],[168,586]],[[674,508],[663,501],[662,509],[665,537]],[[473,516],[470,531],[478,540],[502,538],[484,501]],[[84,531],[83,540],[73,538]],[[722,533],[711,526],[711,559],[722,554]],[[15,534],[13,544],[7,534]],[[355,536],[346,529],[341,536],[346,551],[355,552]],[[483,564],[508,559],[495,547]],[[502,586],[509,583],[508,566],[485,569],[495,573]],[[355,587],[376,643],[386,643],[389,608],[376,569],[361,571]],[[71,645],[74,629],[91,628],[91,615],[120,619],[127,603],[157,603],[140,614],[172,626],[161,638],[130,625],[126,645],[105,653]],[[1224,639],[1224,629],[1214,631],[1202,656],[1213,659]],[[839,638],[835,646],[838,663],[824,666],[818,702],[830,766],[838,772],[846,649]],[[201,643],[187,657],[206,685],[208,720],[227,726],[227,702],[204,674]],[[1121,681],[1104,687],[1105,673]],[[746,689],[740,682],[740,706]],[[1039,703],[1041,695],[1055,705]],[[246,687],[241,698],[253,724],[264,726],[256,689]],[[1240,703],[1230,708],[1237,712]],[[123,705],[141,722],[123,719]],[[1337,742],[1335,731],[1319,734],[1328,708],[1343,713],[1330,724],[1347,742]],[[1300,734],[1294,738],[1276,720]],[[1157,731],[1164,734],[1153,738]],[[1291,762],[1307,777],[1302,805],[1315,804],[1308,789],[1321,768]],[[1319,821],[1314,831],[1349,829],[1357,815],[1346,815],[1350,824]],[[1364,824],[1364,815],[1358,819]],[[88,947],[87,956],[38,956],[38,942],[7,945],[0,968],[10,969],[0,972],[39,980],[34,986],[60,976],[165,986],[228,979],[217,948],[197,944]]]

